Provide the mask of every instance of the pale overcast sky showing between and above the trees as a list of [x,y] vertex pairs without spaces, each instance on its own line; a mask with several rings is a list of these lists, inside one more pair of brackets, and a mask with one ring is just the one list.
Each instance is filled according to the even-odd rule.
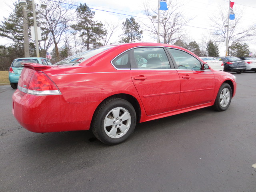
[[[147,0],[152,6],[157,7],[158,0]],[[15,0],[1,0],[4,2],[3,6],[0,8],[0,20],[3,21],[3,17],[7,17],[12,12],[10,7]],[[37,0],[35,0],[37,2]],[[66,1],[71,2],[71,1]],[[130,16],[134,16],[136,21],[148,22],[146,16],[142,14],[143,4],[145,0],[73,0],[76,4],[86,3],[94,12],[95,19],[104,23],[104,21],[116,21],[122,22]],[[183,13],[186,17],[194,17],[186,26],[187,39],[196,40],[198,44],[202,41],[202,36],[208,35],[212,29],[209,16],[218,17],[219,8],[224,7],[227,10],[228,15],[228,0],[179,0],[183,3],[182,7]],[[256,24],[256,0],[234,0],[235,4],[233,10],[236,14],[237,11],[242,12],[242,22],[240,24],[241,28],[245,28],[248,25]],[[73,3],[72,3],[73,4]],[[118,14],[119,13],[119,14]],[[116,33],[118,37],[122,31]],[[152,39],[146,32],[143,34],[144,42],[156,42]],[[1,44],[10,44],[8,40],[0,39]],[[112,39],[114,41],[114,39]],[[111,42],[111,40],[110,40]],[[251,40],[247,42],[252,52],[256,52],[256,40]],[[220,55],[224,55],[225,47],[219,47]]]

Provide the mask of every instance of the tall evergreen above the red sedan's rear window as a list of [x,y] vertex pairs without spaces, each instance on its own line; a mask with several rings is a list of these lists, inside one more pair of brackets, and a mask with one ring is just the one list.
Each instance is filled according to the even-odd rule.
[[74,30],[80,32],[80,37],[87,50],[102,46],[100,41],[105,35],[105,31],[103,30],[104,25],[101,22],[94,21],[94,15],[95,12],[91,11],[86,3],[80,4],[80,6],[76,8],[77,24],[71,26]]

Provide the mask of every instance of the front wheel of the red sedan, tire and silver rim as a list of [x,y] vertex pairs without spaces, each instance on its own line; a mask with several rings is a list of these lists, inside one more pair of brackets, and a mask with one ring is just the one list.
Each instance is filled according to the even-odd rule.
[[216,111],[225,111],[228,109],[232,99],[232,89],[229,84],[223,83],[220,86],[214,105],[212,106]]

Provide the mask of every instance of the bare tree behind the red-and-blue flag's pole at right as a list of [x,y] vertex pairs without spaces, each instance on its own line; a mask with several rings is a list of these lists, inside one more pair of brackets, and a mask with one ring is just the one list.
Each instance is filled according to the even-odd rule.
[[[210,20],[212,21],[212,28],[215,29],[212,32],[212,35],[216,36],[215,42],[224,42],[226,39],[227,28],[225,25],[228,23],[228,14],[224,9],[219,10],[219,17],[210,16]],[[242,28],[241,26],[242,19],[242,11],[236,11],[236,18],[234,20],[230,20],[229,26],[229,37],[228,42],[231,42],[230,46],[237,42],[243,42],[247,40],[251,40],[252,37],[256,36],[255,29],[256,26],[248,26],[247,28]]]

